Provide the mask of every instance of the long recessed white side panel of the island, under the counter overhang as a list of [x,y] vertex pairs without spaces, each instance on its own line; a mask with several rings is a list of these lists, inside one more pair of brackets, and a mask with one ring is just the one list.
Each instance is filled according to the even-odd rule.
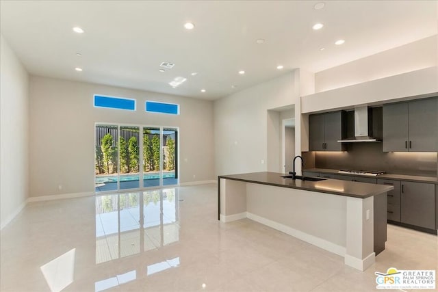
[[254,183],[246,190],[248,218],[344,256],[347,197]]

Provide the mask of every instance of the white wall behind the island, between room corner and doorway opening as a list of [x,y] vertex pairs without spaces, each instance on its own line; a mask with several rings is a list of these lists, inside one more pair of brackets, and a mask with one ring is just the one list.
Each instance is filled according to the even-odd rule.
[[[268,170],[268,109],[296,103],[295,75],[289,72],[214,101],[216,174]],[[274,147],[280,157],[280,147]]]

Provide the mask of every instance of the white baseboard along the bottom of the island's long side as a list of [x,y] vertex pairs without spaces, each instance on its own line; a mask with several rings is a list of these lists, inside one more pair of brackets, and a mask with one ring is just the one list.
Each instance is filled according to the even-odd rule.
[[311,243],[315,246],[318,246],[318,248],[322,248],[323,250],[328,250],[329,252],[333,252],[334,254],[337,254],[339,256],[345,256],[345,254],[346,254],[346,248],[344,246],[337,245],[335,243],[332,243],[330,241],[326,241],[325,239],[321,239],[321,238],[315,237],[313,235],[309,235],[307,233],[303,233],[300,230],[286,226],[284,224],[280,224],[278,222],[274,222],[272,220],[266,219],[266,218],[261,217],[259,215],[255,215],[255,214],[250,213],[250,212],[246,212],[246,213],[247,213],[247,217],[250,220],[254,220],[256,222],[259,222],[261,224],[264,224],[264,225],[269,226],[271,228],[274,228],[276,230],[280,230],[283,233],[286,233],[288,235],[291,235],[293,237],[301,239],[302,241],[306,241],[306,242]]

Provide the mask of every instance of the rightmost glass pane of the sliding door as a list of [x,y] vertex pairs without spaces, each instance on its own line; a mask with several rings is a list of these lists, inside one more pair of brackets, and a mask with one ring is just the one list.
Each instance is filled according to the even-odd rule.
[[177,129],[163,130],[163,185],[177,185]]

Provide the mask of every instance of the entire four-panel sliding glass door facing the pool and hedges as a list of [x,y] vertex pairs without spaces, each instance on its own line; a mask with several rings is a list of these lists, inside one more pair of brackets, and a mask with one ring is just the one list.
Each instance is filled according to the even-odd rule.
[[96,124],[95,133],[96,191],[178,184],[177,128]]

